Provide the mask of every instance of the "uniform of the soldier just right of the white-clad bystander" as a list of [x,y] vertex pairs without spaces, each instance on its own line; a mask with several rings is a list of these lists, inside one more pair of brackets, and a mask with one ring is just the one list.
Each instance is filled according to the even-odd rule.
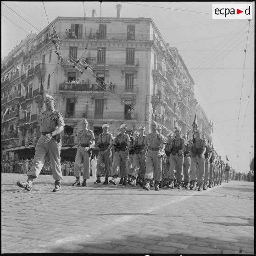
[[104,151],[107,150],[111,141],[113,141],[113,136],[111,133],[106,132],[106,134],[100,134],[97,142],[97,146],[100,148],[97,163],[97,177],[100,177],[103,174],[103,163],[105,164],[105,178],[108,178],[110,176],[110,150],[106,153],[104,153]]

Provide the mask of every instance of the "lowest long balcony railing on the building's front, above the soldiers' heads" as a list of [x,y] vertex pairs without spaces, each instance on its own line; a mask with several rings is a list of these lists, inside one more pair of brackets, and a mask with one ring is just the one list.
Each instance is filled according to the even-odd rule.
[[86,118],[86,119],[98,119],[98,120],[137,120],[137,113],[128,113],[123,112],[103,112],[95,113],[95,111],[62,111],[61,114],[64,118]]

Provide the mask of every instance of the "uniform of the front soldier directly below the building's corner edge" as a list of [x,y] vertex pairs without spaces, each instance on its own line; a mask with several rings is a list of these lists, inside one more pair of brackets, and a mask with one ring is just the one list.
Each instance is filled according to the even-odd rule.
[[[166,140],[163,135],[158,132],[150,133],[145,137],[144,144],[148,147],[146,154],[146,184],[152,178],[155,179],[156,185],[161,181],[162,160],[161,157],[158,156],[158,153],[161,150],[161,144],[165,143]],[[161,153],[163,155],[164,152]]]

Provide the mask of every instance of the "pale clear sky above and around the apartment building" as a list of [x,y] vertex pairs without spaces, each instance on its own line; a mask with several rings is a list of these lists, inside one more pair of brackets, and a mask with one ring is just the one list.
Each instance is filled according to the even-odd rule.
[[[121,17],[152,18],[165,42],[178,49],[195,81],[198,104],[213,120],[217,152],[223,160],[228,156],[240,173],[248,173],[254,155],[255,15],[250,22],[212,19],[212,3],[224,2],[2,1],[1,57],[58,16],[92,17],[95,9],[97,17],[117,17],[116,5],[121,4]],[[236,3],[252,3],[254,10],[255,2]]]

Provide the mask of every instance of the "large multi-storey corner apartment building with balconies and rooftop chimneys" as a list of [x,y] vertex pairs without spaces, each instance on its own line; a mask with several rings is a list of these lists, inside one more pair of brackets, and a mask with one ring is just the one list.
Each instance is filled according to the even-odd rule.
[[[16,157],[13,152],[20,158],[33,157],[46,93],[56,99],[56,109],[65,118],[63,156],[75,149],[83,117],[96,139],[103,123],[109,124],[109,131],[115,136],[123,123],[128,134],[141,125],[149,133],[151,120],[162,126],[165,135],[174,127],[191,134],[198,102],[194,81],[178,49],[165,43],[151,18],[122,18],[121,7],[117,5],[117,17],[113,18],[95,17],[94,10],[92,17],[57,17],[42,33],[26,41],[17,75],[20,94],[15,99],[19,112],[13,126],[17,138],[15,143],[4,144],[9,157]],[[52,26],[60,39],[57,44],[63,58],[56,55],[49,39],[55,35]],[[89,63],[91,72],[89,68],[79,72],[73,67],[76,65],[70,64],[75,60]],[[10,69],[15,67],[13,64]],[[2,78],[6,72],[2,72]],[[6,109],[7,101],[2,100]],[[3,143],[10,122],[5,111],[2,115],[6,120],[6,124],[2,122],[6,126],[2,130]]]

